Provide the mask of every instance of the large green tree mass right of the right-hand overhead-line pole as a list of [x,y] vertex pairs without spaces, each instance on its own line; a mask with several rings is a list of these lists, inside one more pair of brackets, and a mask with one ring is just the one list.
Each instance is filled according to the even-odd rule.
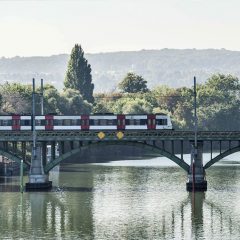
[[232,75],[214,74],[198,89],[199,127],[239,130],[240,82]]

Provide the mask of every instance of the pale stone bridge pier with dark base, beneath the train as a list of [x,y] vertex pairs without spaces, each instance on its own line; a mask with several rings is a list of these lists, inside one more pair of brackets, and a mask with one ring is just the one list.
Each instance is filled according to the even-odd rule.
[[[35,154],[34,154],[35,152]],[[52,182],[48,179],[48,174],[44,173],[42,165],[42,149],[37,144],[36,151],[32,151],[32,161],[29,173],[29,182],[26,183],[27,191],[46,190],[52,188]]]

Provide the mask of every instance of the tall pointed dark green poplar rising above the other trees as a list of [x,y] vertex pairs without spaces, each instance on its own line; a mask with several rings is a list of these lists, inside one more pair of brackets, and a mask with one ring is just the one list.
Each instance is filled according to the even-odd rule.
[[81,45],[75,44],[72,49],[68,68],[64,80],[65,88],[78,90],[84,100],[93,103],[93,89],[91,65],[84,57]]

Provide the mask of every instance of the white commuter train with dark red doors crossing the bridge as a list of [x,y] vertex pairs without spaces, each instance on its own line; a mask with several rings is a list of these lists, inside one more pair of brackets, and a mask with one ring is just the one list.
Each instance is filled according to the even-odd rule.
[[[31,115],[0,116],[0,131],[31,131]],[[37,115],[37,131],[54,130],[163,130],[172,129],[169,116],[165,114],[95,114],[95,115]]]

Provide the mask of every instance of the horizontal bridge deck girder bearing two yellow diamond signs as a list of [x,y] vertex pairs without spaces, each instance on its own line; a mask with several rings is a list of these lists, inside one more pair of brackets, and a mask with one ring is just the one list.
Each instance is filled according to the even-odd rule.
[[[194,140],[193,131],[137,130],[137,131],[38,131],[37,141],[152,141]],[[240,141],[240,132],[199,131],[202,141]],[[1,131],[0,141],[32,141],[31,131]]]

